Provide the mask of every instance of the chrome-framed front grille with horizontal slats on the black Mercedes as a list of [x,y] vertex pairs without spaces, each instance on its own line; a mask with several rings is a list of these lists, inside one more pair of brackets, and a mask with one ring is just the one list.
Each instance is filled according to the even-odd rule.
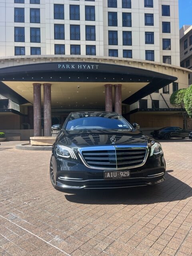
[[82,150],[84,162],[87,166],[96,169],[125,169],[144,164],[147,155],[146,147],[118,147],[110,149]]

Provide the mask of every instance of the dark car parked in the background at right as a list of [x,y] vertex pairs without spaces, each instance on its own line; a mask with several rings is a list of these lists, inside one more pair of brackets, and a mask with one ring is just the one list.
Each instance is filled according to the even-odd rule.
[[160,128],[159,130],[154,130],[152,136],[158,139],[169,140],[170,138],[188,138],[189,133],[192,130],[185,130],[177,126],[168,126]]

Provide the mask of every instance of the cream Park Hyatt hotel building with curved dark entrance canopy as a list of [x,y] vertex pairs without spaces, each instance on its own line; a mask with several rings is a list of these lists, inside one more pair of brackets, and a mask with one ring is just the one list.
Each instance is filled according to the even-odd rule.
[[190,73],[178,0],[0,0],[0,13],[0,129],[45,128],[81,109],[182,126],[169,103]]

